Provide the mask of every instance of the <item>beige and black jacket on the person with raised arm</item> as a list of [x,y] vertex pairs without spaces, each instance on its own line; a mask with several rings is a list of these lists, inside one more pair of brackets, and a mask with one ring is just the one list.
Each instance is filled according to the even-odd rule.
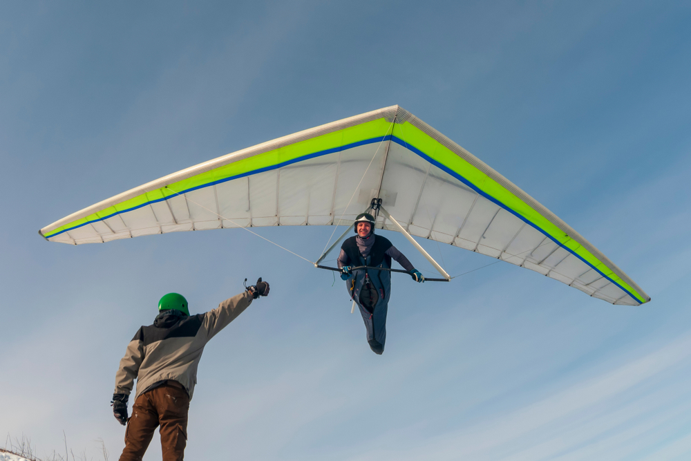
[[142,326],[120,360],[115,394],[129,395],[137,379],[136,399],[155,384],[171,379],[182,384],[191,399],[204,346],[250,303],[252,294],[244,292],[204,314],[159,316],[153,325]]

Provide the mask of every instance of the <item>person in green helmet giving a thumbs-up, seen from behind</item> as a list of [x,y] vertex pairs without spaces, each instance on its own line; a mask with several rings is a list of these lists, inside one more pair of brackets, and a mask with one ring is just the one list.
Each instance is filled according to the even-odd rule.
[[[120,461],[141,461],[160,426],[163,461],[181,461],[187,444],[187,411],[197,382],[204,346],[240,315],[252,299],[269,294],[261,278],[256,285],[204,314],[189,315],[187,300],[166,294],[153,325],[142,326],[127,346],[115,375],[113,414],[125,429]],[[127,400],[137,379],[132,417]]]

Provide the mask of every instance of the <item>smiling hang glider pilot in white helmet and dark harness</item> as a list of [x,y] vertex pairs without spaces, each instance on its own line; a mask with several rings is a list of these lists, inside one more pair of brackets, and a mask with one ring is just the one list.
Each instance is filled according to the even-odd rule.
[[424,282],[425,278],[387,238],[375,236],[375,218],[371,214],[362,213],[355,218],[355,233],[357,236],[347,238],[341,245],[338,265],[350,298],[360,308],[370,349],[381,355],[386,341],[391,272],[367,268],[352,270],[352,267],[390,268],[393,258],[414,281]]

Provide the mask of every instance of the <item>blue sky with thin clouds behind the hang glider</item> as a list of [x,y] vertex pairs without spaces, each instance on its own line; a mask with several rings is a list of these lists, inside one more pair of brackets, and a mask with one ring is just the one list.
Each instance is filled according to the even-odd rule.
[[[204,312],[263,276],[271,296],[205,350],[189,459],[688,459],[690,19],[684,2],[3,4],[0,434],[39,457],[63,433],[90,458],[103,440],[117,459],[115,371],[158,299]],[[448,285],[401,276],[379,357],[340,281],[239,229],[79,247],[37,235],[167,173],[392,104],[554,211],[652,303],[609,305],[508,264]],[[314,259],[332,228],[258,232]],[[442,252],[452,275],[491,262]],[[155,439],[144,459],[160,457]]]

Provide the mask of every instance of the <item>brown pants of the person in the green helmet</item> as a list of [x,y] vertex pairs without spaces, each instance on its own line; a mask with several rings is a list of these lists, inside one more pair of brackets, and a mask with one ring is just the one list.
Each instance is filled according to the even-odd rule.
[[159,425],[163,461],[182,461],[187,444],[188,410],[189,397],[180,384],[163,384],[140,395],[127,421],[120,461],[141,461]]

